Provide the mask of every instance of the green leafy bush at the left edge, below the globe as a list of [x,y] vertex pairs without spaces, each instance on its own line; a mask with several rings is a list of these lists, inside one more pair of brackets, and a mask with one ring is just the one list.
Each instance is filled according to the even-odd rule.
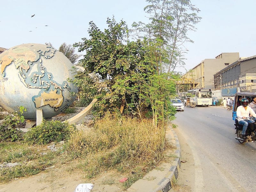
[[4,117],[4,121],[0,125],[0,141],[14,142],[22,140],[21,131],[17,128],[17,125],[25,120],[22,116],[23,111],[26,111],[26,108],[20,106],[19,113],[18,110],[15,110]]

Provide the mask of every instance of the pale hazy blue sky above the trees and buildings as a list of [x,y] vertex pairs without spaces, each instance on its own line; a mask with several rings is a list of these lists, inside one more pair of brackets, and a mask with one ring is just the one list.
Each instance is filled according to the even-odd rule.
[[[240,57],[256,55],[255,0],[191,0],[201,11],[196,32],[188,36],[186,69],[221,52],[239,52]],[[88,38],[89,21],[107,28],[107,17],[123,19],[131,28],[133,21],[147,22],[146,0],[6,0],[1,1],[0,47],[24,43],[63,42],[74,44]],[[31,18],[31,15],[34,15]],[[48,26],[45,26],[48,25]],[[31,32],[29,32],[31,31]],[[184,72],[184,69],[177,69]]]

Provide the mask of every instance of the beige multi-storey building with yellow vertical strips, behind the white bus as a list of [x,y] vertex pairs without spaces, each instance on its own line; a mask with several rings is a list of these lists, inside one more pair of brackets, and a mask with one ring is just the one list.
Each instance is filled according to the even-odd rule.
[[221,53],[215,59],[204,59],[183,77],[193,79],[193,82],[197,84],[195,88],[212,89],[214,87],[213,75],[237,60],[239,60],[238,52]]

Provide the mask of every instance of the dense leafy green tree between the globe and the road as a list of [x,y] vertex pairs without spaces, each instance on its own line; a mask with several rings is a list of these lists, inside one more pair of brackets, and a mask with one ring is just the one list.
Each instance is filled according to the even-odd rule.
[[[167,97],[175,92],[172,81],[166,81],[166,76],[156,75],[158,68],[149,49],[155,49],[147,40],[128,40],[128,28],[121,20],[117,23],[114,18],[107,19],[108,29],[101,31],[92,21],[89,23],[90,39],[74,44],[79,51],[86,51],[80,61],[87,69],[84,74],[98,74],[97,81],[90,76],[78,74],[73,83],[78,87],[88,86],[94,92],[83,93],[96,97],[95,114],[102,116],[107,111],[124,112],[139,115],[150,112],[153,122],[167,115],[169,106]],[[164,83],[165,82],[165,83]],[[162,85],[162,86],[159,86]],[[82,95],[81,95],[82,96]],[[151,98],[150,98],[151,97]],[[159,99],[158,99],[159,98]],[[153,102],[153,103],[152,103]],[[160,114],[160,115],[158,115]]]

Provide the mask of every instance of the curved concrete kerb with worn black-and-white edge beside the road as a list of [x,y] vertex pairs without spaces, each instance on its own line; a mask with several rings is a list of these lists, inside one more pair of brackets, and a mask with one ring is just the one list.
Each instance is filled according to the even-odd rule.
[[[163,167],[169,166],[167,171],[161,173],[159,170],[152,170],[147,175],[145,175],[142,179],[136,181],[130,188],[126,191],[128,192],[168,192],[172,189],[176,180],[178,179],[178,174],[180,171],[180,143],[178,137],[174,130],[169,126],[171,131],[166,134],[166,138],[169,142],[176,144],[175,151],[175,160],[170,164],[163,164]],[[153,178],[152,180],[147,180],[147,178]]]

